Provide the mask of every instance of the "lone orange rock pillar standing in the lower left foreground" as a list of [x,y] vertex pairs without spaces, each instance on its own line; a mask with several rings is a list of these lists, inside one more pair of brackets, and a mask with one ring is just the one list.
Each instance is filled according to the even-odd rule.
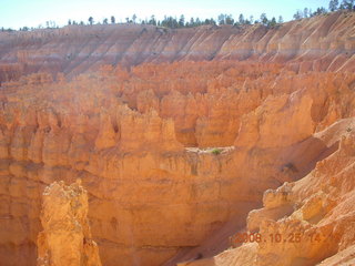
[[88,193],[81,182],[54,182],[43,192],[38,266],[101,266],[88,221]]

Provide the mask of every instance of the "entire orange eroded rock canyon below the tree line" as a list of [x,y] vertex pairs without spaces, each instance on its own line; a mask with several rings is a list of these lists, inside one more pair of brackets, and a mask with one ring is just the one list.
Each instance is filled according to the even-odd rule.
[[0,32],[0,262],[351,265],[354,71],[354,12]]

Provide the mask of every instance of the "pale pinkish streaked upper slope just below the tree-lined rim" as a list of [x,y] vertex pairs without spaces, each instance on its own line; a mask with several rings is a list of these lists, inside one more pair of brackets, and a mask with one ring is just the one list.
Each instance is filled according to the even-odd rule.
[[221,59],[286,62],[301,72],[354,71],[354,13],[335,12],[274,29],[110,24],[1,32],[0,82],[37,72],[74,76],[102,64]]

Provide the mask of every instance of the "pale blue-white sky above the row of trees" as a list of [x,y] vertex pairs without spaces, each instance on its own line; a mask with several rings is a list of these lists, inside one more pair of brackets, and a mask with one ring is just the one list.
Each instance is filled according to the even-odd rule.
[[125,21],[126,17],[134,13],[140,19],[162,19],[164,14],[179,18],[184,14],[186,19],[199,17],[200,19],[214,18],[220,13],[232,14],[234,19],[243,13],[245,18],[254,16],[258,19],[265,12],[271,19],[283,16],[284,20],[291,20],[297,9],[318,7],[328,8],[328,0],[0,0],[0,28],[19,29],[20,27],[45,27],[45,21],[55,21],[58,25],[64,25],[68,20],[81,20],[85,23],[89,17],[94,21],[114,16],[116,22]]

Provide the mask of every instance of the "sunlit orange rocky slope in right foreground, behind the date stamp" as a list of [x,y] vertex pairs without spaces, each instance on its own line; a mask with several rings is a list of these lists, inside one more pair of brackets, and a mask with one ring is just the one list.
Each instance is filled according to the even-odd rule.
[[[263,208],[247,216],[247,244],[180,265],[353,265],[354,126],[354,117],[345,119],[314,134],[327,146],[336,144],[336,152],[304,178],[264,193]],[[244,238],[236,237],[232,243],[239,246]]]

